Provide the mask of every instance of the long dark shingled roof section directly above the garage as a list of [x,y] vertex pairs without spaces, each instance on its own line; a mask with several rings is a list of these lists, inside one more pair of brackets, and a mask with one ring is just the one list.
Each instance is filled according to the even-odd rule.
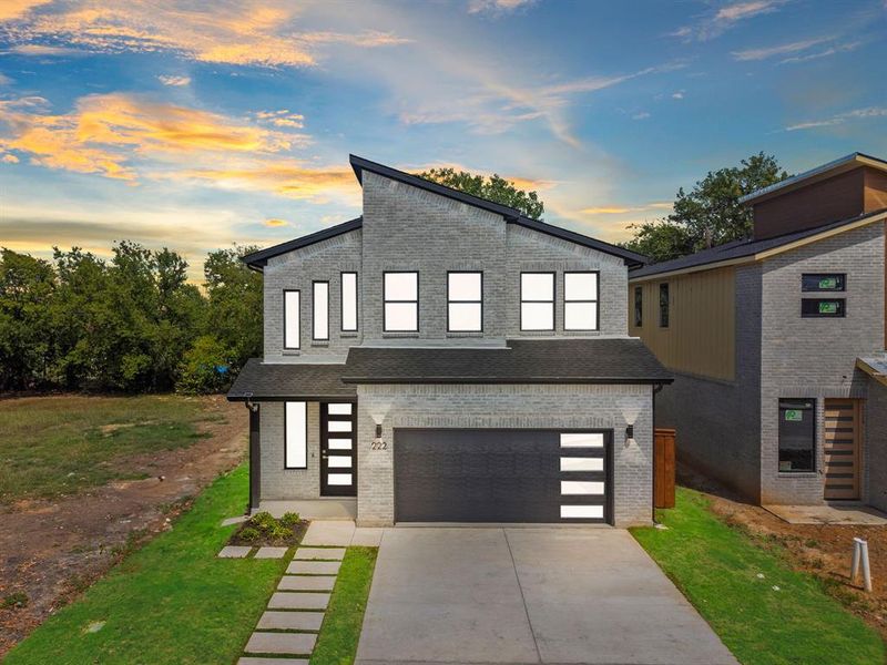
[[353,347],[354,383],[670,383],[636,338],[511,339],[506,348]]

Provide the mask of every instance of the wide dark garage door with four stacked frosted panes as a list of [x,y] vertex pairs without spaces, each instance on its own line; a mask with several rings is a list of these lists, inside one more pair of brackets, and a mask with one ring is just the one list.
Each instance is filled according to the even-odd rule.
[[612,523],[612,431],[396,429],[398,522]]

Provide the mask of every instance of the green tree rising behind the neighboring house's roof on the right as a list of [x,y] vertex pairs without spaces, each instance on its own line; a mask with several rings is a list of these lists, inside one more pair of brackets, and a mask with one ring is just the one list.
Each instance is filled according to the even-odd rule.
[[752,234],[752,209],[740,198],[788,177],[773,155],[763,152],[699,181],[690,193],[681,187],[674,211],[663,219],[632,225],[628,249],[654,262],[669,260]]

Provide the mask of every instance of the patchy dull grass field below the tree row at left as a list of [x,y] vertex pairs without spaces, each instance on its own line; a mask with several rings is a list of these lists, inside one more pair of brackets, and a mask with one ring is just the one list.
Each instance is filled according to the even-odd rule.
[[203,438],[200,424],[221,418],[204,405],[157,395],[0,400],[0,503],[143,478],[124,460]]

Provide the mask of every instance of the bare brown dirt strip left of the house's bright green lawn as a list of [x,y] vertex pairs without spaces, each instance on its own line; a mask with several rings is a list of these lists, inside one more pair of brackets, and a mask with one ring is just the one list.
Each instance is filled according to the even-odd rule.
[[[128,551],[169,529],[193,497],[243,460],[246,409],[214,396],[205,398],[205,410],[224,416],[201,426],[205,439],[128,459],[128,471],[144,480],[0,509],[0,659]],[[27,596],[23,606],[3,607],[3,598],[18,594]]]

